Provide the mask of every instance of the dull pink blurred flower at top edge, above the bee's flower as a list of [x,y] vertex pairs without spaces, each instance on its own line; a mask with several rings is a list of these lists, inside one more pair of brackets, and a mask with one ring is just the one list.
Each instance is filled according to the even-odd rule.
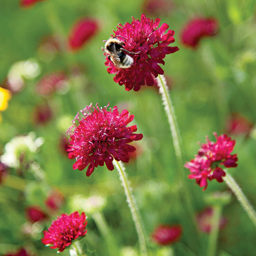
[[148,15],[167,16],[175,8],[172,1],[167,0],[145,0],[142,10]]

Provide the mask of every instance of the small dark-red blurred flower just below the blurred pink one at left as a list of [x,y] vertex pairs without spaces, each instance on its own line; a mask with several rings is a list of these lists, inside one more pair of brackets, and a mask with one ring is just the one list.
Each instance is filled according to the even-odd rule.
[[32,120],[35,125],[44,125],[51,121],[53,111],[48,104],[37,105],[32,114]]

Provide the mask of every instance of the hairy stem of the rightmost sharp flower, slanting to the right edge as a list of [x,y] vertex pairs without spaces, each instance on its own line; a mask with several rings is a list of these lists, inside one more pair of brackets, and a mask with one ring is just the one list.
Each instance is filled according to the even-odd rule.
[[227,183],[229,188],[233,191],[234,195],[237,196],[238,201],[241,203],[247,215],[250,217],[250,219],[256,226],[256,212],[252,208],[251,204],[249,203],[248,199],[245,197],[242,189],[239,187],[236,181],[234,181],[232,176],[228,174],[226,170],[225,170],[225,173],[226,173],[226,176],[223,177],[223,180]]

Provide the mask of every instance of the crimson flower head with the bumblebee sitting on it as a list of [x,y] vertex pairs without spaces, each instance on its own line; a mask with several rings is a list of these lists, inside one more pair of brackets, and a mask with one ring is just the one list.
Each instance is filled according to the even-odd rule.
[[178,47],[168,46],[175,41],[174,31],[168,30],[165,33],[169,26],[164,23],[159,28],[159,23],[160,18],[156,18],[154,21],[142,14],[141,20],[133,17],[131,24],[119,24],[117,30],[114,31],[115,37],[124,43],[123,48],[136,53],[130,54],[134,60],[133,65],[125,69],[118,69],[104,53],[108,72],[116,74],[114,81],[118,82],[120,86],[124,84],[126,91],[132,89],[139,91],[144,84],[153,86],[154,77],[164,73],[159,64],[164,65],[165,55],[179,50]]

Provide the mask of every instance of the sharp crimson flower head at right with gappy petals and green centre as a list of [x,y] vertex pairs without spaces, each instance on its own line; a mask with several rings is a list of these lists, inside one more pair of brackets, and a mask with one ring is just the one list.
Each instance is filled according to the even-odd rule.
[[231,155],[236,141],[226,134],[214,135],[217,141],[212,142],[206,137],[206,143],[201,145],[198,155],[184,165],[191,173],[188,178],[196,179],[196,183],[204,187],[203,190],[207,188],[207,179],[223,182],[222,177],[225,177],[226,173],[221,166],[230,168],[238,165],[237,154]]

